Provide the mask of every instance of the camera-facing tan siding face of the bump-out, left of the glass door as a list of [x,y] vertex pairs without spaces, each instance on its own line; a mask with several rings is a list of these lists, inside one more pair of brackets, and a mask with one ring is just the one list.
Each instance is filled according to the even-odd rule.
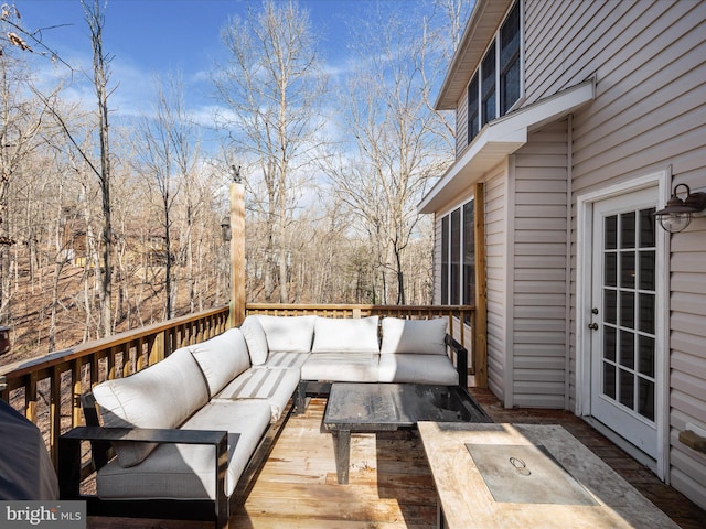
[[566,391],[567,122],[514,155],[513,404],[563,408]]

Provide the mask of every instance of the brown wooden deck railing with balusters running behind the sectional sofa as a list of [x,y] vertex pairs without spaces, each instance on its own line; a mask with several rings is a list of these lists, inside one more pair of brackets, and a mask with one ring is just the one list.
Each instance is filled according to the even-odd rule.
[[[473,306],[417,305],[304,305],[249,303],[247,314],[407,319],[448,317],[449,334],[469,350],[469,374],[475,374],[473,354],[475,310]],[[183,316],[71,349],[0,366],[0,398],[40,428],[52,461],[57,463],[58,436],[83,424],[81,396],[106,379],[126,377],[227,328],[228,307]]]

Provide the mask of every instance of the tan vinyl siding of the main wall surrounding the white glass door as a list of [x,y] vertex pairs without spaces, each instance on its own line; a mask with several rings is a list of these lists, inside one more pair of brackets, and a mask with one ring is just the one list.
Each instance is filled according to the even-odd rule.
[[[706,2],[527,0],[525,7],[525,104],[597,78],[596,100],[574,116],[574,193],[670,165],[672,185],[706,187]],[[702,507],[706,458],[680,443],[678,432],[687,422],[706,428],[704,240],[704,218],[672,236],[668,352],[670,479]],[[570,354],[574,366],[574,341]],[[575,381],[571,367],[571,398]]]

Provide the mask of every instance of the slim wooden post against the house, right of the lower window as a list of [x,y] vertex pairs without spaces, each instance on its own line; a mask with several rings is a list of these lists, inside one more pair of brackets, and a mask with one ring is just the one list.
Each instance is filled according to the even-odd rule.
[[485,191],[475,184],[475,328],[473,356],[475,386],[488,388],[488,284],[485,274]]

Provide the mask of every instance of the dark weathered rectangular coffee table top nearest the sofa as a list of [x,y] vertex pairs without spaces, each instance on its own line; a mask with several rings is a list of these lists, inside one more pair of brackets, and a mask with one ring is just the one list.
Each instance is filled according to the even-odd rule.
[[334,382],[323,417],[325,430],[397,430],[418,421],[492,422],[459,386]]

